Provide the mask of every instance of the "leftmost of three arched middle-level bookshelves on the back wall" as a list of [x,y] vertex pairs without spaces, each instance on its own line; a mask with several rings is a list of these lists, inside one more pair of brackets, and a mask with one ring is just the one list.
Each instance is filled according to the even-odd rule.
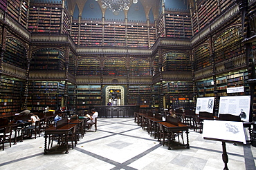
[[77,76],[100,76],[100,61],[86,58],[77,61]]

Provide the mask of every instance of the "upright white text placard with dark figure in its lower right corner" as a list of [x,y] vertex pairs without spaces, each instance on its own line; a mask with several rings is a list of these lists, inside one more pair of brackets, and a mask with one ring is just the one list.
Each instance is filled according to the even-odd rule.
[[221,96],[219,98],[219,114],[240,116],[248,122],[250,114],[250,96]]

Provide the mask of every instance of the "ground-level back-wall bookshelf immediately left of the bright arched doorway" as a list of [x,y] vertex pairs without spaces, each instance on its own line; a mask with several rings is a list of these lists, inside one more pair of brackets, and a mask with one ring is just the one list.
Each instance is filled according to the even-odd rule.
[[95,105],[101,105],[100,85],[77,85],[77,110],[89,109]]

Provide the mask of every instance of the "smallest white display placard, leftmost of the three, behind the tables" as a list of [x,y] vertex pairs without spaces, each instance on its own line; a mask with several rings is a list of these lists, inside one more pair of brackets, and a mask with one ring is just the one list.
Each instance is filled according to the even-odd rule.
[[199,111],[207,111],[213,114],[214,97],[197,98],[196,100],[196,114]]

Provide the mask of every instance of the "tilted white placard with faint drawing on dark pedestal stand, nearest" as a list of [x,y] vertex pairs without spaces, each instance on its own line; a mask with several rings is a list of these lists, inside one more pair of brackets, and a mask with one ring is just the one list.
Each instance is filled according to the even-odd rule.
[[203,120],[203,138],[224,140],[226,142],[243,142],[246,144],[242,122]]

